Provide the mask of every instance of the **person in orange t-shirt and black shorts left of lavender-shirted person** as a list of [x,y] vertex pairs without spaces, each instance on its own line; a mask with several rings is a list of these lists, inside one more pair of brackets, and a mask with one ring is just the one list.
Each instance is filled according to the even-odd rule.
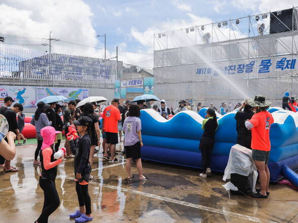
[[[111,101],[111,105],[107,106],[102,115],[102,130],[106,135],[106,143],[104,147],[103,158],[109,160],[109,162],[118,161],[114,157],[116,150],[116,144],[118,144],[118,122],[121,121],[120,110],[118,109],[119,99],[114,98]],[[109,148],[110,158],[107,154]]]

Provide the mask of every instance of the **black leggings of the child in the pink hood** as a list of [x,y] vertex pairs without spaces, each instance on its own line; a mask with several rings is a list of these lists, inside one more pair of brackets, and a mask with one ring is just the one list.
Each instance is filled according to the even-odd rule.
[[48,223],[49,216],[59,207],[60,199],[56,190],[55,181],[40,177],[40,186],[44,191],[45,200],[38,222]]

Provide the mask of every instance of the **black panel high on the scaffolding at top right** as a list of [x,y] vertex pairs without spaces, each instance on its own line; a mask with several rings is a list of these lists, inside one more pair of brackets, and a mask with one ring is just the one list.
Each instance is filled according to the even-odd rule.
[[[285,9],[272,12],[270,15],[270,33],[288,32],[297,29],[296,9]],[[294,15],[294,21],[293,21]]]

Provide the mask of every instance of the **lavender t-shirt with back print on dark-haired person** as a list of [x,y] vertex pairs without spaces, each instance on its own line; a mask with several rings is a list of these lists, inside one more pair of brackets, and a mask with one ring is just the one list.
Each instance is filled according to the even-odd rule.
[[139,141],[137,131],[142,129],[141,120],[137,117],[127,117],[123,123],[124,146],[134,145]]

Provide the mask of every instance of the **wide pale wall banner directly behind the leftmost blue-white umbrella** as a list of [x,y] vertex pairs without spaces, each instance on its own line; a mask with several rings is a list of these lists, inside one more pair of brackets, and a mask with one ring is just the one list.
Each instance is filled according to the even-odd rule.
[[62,95],[69,100],[75,100],[77,98],[83,100],[89,96],[89,91],[88,89],[81,88],[36,87],[36,100],[50,95]]

